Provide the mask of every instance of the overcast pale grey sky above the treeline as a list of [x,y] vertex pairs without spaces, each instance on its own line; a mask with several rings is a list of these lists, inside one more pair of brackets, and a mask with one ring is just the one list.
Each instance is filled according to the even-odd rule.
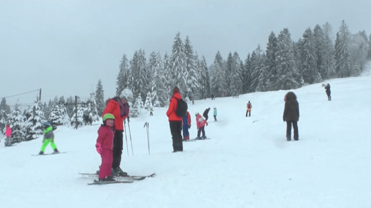
[[[369,35],[370,8],[370,0],[1,0],[0,97],[40,88],[43,102],[56,95],[89,97],[99,79],[105,97],[112,96],[123,54],[170,54],[178,31],[207,65],[217,51],[223,58],[238,51],[245,60],[284,27],[297,41],[307,27],[326,21],[335,34],[344,19],[350,32]],[[35,96],[19,100],[30,104]]]

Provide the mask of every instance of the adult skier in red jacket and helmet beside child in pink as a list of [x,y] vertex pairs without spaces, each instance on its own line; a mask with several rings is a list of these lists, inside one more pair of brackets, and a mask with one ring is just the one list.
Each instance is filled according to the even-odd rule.
[[113,97],[109,100],[106,104],[106,108],[104,108],[104,111],[102,113],[102,116],[106,113],[111,113],[115,117],[115,137],[113,138],[113,162],[112,162],[112,169],[113,169],[113,175],[117,176],[125,176],[127,175],[126,172],[123,172],[121,170],[120,164],[121,164],[121,155],[122,155],[122,148],[124,145],[123,142],[123,132],[124,132],[124,120],[128,118],[129,122],[129,108],[128,100],[124,96],[123,93],[121,93],[118,97]]

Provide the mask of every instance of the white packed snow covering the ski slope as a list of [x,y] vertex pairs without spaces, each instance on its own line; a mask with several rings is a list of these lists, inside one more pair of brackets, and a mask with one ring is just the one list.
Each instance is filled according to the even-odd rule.
[[[121,167],[132,175],[157,175],[131,184],[90,186],[93,178],[78,174],[98,170],[98,124],[58,127],[55,142],[66,154],[31,156],[40,151],[41,137],[9,148],[1,142],[0,207],[370,208],[371,76],[328,82],[332,101],[322,84],[294,90],[299,141],[285,138],[287,91],[188,102],[190,137],[196,137],[194,113],[210,107],[205,132],[211,139],[183,143],[178,153],[172,153],[167,109],[155,108],[153,117],[142,111],[131,119],[131,139],[126,132],[128,152],[124,134]],[[245,117],[248,101],[251,117]]]

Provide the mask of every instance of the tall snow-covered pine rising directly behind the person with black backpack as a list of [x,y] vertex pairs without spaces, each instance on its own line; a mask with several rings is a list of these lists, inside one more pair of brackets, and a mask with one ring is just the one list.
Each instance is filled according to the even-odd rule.
[[[175,86],[179,87],[179,91],[183,97],[188,96],[188,71],[187,57],[184,51],[183,41],[181,41],[180,32],[174,38],[172,45],[172,54],[170,57],[172,80]],[[172,86],[173,88],[174,86]],[[172,89],[171,88],[171,89]]]

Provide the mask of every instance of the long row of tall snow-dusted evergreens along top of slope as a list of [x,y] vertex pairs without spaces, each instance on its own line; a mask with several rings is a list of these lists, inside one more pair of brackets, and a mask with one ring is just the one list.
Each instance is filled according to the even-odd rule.
[[[163,107],[174,86],[183,97],[229,96],[297,89],[329,78],[359,76],[366,60],[371,59],[371,35],[368,38],[364,30],[350,34],[342,21],[334,43],[332,30],[329,23],[315,25],[298,41],[292,41],[289,29],[284,28],[277,36],[271,32],[266,49],[258,45],[245,62],[237,51],[229,52],[227,60],[218,51],[210,67],[203,56],[194,53],[188,36],[183,43],[178,32],[170,56],[166,52],[162,58],[159,52],[152,52],[147,61],[142,49],[135,51],[131,60],[124,54],[117,95],[124,88],[133,89],[137,102],[139,93],[149,93],[151,101],[157,98]],[[145,100],[142,97],[142,102]]]

